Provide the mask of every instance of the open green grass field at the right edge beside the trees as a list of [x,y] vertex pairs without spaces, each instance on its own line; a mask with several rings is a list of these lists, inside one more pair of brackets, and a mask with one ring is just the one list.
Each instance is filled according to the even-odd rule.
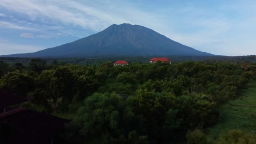
[[219,108],[219,123],[209,129],[208,141],[216,141],[222,133],[232,129],[256,133],[256,81],[240,90],[238,98],[223,104]]

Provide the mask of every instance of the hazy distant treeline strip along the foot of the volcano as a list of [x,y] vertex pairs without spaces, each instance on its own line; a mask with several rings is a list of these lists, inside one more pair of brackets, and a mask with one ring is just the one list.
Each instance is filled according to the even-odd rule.
[[[57,61],[61,64],[78,64],[78,65],[99,65],[102,63],[114,63],[117,60],[125,60],[129,64],[131,63],[149,63],[149,59],[158,56],[101,56],[91,57],[91,58],[41,58],[48,64],[53,61]],[[225,61],[225,62],[235,62],[242,63],[243,61],[248,61],[250,63],[256,62],[256,56],[167,56],[168,59],[176,62],[186,62],[186,61]],[[9,64],[22,63],[25,66],[29,65],[29,62],[34,58],[12,58],[12,57],[0,57],[0,61],[5,61]]]

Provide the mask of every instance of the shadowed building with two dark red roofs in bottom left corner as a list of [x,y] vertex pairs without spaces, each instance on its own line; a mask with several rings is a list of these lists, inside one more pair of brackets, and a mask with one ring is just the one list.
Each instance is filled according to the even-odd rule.
[[57,135],[70,120],[22,108],[21,104],[26,101],[29,101],[27,96],[0,88],[0,133],[3,134],[0,141],[3,144],[59,144]]

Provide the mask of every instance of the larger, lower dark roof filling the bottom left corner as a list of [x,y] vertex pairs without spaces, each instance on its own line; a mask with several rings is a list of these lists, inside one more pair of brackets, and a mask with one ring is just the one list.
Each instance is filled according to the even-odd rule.
[[[22,109],[22,108],[21,108]],[[69,120],[23,109],[0,118],[1,141],[10,144],[47,144]]]

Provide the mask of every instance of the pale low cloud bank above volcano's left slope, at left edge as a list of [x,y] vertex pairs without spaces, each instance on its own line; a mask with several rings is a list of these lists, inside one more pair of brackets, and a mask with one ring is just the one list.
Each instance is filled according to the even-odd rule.
[[15,43],[0,43],[0,55],[14,54],[14,53],[31,53],[40,51],[43,48],[35,45],[21,45]]

